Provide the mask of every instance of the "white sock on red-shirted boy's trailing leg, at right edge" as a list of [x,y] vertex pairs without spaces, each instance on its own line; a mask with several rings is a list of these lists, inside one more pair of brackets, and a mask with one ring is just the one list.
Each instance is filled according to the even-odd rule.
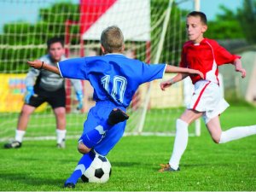
[[256,134],[256,125],[238,126],[227,131],[222,131],[219,143],[228,143],[230,141],[240,139]]

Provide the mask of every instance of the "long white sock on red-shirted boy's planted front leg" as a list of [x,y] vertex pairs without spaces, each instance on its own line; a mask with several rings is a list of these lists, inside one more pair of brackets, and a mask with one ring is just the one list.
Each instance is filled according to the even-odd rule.
[[189,131],[188,124],[184,122],[182,119],[177,119],[176,121],[176,137],[174,141],[172,157],[169,161],[172,169],[177,170],[179,161],[187,148],[188,140],[189,140]]

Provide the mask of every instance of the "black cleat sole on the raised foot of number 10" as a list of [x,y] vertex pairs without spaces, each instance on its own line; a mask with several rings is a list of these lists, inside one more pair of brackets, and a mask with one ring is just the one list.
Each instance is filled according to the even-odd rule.
[[108,115],[108,124],[116,125],[119,122],[125,121],[126,119],[129,119],[129,115],[127,113],[119,108],[114,108]]

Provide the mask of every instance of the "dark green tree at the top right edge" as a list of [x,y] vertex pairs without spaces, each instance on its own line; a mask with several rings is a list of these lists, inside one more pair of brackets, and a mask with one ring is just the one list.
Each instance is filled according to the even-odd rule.
[[240,21],[249,44],[256,43],[256,0],[244,0],[243,6],[238,9],[237,20]]

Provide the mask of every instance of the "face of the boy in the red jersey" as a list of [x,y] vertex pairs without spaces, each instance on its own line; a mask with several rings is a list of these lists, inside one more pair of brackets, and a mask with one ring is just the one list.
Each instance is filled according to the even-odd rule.
[[199,16],[189,16],[187,17],[186,31],[189,40],[199,44],[203,39],[203,33],[207,31],[207,25],[201,22]]

